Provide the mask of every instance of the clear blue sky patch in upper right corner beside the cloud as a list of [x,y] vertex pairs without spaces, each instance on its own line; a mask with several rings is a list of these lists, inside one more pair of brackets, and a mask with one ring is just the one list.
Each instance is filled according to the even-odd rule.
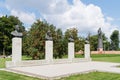
[[120,25],[120,0],[82,0],[85,4],[95,4],[102,9],[105,16],[111,16]]

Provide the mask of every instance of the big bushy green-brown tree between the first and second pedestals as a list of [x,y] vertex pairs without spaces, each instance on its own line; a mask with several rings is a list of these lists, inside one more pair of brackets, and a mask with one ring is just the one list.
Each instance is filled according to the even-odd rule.
[[37,20],[28,31],[24,40],[23,52],[32,59],[43,59],[45,55],[45,35],[50,30],[53,41],[56,42],[56,27],[46,21]]

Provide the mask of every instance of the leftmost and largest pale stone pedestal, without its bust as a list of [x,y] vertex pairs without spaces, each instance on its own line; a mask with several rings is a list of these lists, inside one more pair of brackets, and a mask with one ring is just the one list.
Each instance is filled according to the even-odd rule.
[[14,37],[12,39],[12,62],[22,60],[22,38]]

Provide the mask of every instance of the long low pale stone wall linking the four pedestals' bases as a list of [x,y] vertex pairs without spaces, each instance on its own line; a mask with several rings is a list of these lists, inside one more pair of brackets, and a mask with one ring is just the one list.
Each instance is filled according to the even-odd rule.
[[48,65],[48,64],[64,64],[64,63],[77,63],[77,62],[87,62],[91,61],[91,58],[74,58],[71,60],[69,59],[53,59],[51,62],[47,62],[46,60],[27,60],[27,61],[19,61],[19,62],[6,62],[6,68],[10,67],[25,67],[25,66],[40,66],[40,65]]

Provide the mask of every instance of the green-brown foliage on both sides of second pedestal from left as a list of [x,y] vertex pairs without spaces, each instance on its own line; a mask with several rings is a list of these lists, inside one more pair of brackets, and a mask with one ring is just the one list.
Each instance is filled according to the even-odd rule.
[[54,57],[62,58],[65,53],[62,30],[40,20],[37,20],[32,25],[25,37],[23,44],[24,54],[32,56],[33,59],[43,59],[45,57],[45,35],[48,30],[51,31],[53,37]]

